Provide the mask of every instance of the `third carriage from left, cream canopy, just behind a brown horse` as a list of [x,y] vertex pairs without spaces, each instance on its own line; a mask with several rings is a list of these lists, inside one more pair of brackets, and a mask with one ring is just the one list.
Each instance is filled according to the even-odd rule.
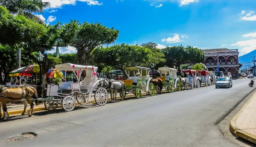
[[161,77],[157,78],[160,78],[163,81],[163,86],[165,87],[166,91],[171,93],[172,88],[174,87],[174,82],[177,79],[177,69],[160,67],[158,68],[158,71],[160,72]]

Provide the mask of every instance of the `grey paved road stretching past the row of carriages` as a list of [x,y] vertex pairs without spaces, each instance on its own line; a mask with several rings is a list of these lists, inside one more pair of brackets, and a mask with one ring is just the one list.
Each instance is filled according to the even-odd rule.
[[[215,86],[131,99],[73,112],[38,112],[0,122],[0,144],[12,147],[237,147],[215,125],[253,88],[249,79],[233,88]],[[45,115],[47,114],[47,115]],[[7,142],[17,133],[34,139]]]

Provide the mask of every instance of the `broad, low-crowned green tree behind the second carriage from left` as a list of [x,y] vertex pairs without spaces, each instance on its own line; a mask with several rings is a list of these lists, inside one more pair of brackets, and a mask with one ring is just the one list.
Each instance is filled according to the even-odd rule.
[[[95,62],[120,69],[125,74],[124,68],[127,66],[145,65],[150,60],[152,52],[144,46],[122,43],[105,48],[98,47],[93,50],[92,55]],[[126,74],[125,76],[128,78]]]

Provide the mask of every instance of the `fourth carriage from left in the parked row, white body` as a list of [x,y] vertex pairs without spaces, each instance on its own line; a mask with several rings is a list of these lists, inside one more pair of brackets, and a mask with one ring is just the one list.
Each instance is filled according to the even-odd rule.
[[181,72],[184,74],[184,77],[177,78],[175,81],[175,89],[177,89],[177,91],[182,90],[182,86],[184,86],[184,89],[185,86],[190,86],[191,89],[194,89],[195,87],[199,88],[201,86],[196,70],[185,69],[181,70]]

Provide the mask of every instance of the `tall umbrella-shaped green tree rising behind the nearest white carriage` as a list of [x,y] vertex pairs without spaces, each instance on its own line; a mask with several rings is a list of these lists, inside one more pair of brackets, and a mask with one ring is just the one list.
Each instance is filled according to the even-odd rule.
[[78,63],[87,65],[90,60],[90,52],[97,46],[114,43],[119,30],[102,26],[100,23],[80,23],[71,20],[61,29],[61,41],[65,46],[73,46],[77,49]]

